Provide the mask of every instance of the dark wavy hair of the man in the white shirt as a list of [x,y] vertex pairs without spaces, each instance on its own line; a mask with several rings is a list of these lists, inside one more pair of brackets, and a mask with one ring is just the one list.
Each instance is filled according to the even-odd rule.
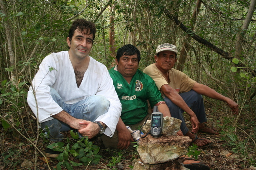
[[95,33],[96,33],[96,27],[94,23],[82,18],[74,20],[68,33],[68,38],[70,42],[72,40],[72,37],[76,29],[78,29],[78,32],[81,32],[85,35],[86,34],[93,35],[93,41],[94,41]]

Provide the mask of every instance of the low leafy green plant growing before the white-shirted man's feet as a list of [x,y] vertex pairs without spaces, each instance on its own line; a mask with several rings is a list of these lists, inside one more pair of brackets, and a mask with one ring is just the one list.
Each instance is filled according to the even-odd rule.
[[[78,139],[78,134],[76,132],[74,133],[71,130],[70,134],[72,137],[74,137],[74,139]],[[61,167],[72,170],[73,166],[89,165],[91,163],[99,164],[100,158],[102,158],[102,156],[98,154],[100,147],[93,145],[93,142],[90,142],[88,137],[82,137],[78,139],[76,143],[67,139],[66,145],[63,142],[58,142],[53,143],[47,147],[54,151],[62,152],[57,157],[58,161],[60,161],[57,164],[57,170],[61,170]],[[71,155],[74,158],[79,159],[79,161],[82,163],[76,163],[69,160]]]

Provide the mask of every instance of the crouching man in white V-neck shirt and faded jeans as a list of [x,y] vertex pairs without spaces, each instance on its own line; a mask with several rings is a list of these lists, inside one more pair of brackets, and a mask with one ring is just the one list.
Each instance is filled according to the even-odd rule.
[[32,81],[28,104],[52,141],[71,128],[88,138],[111,137],[116,129],[122,108],[113,80],[105,65],[88,56],[95,33],[94,23],[75,20],[69,51],[46,56]]

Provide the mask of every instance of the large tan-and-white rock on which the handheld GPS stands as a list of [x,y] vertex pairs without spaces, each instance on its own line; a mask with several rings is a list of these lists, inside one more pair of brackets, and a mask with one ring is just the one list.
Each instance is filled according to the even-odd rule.
[[148,135],[145,138],[140,138],[137,150],[143,163],[158,164],[185,155],[190,143],[189,137],[163,135],[154,138]]

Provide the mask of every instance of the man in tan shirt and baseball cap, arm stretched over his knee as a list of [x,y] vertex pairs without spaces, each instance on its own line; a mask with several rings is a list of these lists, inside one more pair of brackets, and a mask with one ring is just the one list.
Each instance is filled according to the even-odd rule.
[[[173,44],[164,43],[157,46],[156,63],[149,65],[143,71],[156,83],[168,105],[171,116],[182,120],[180,129],[184,136],[192,139],[198,147],[208,147],[213,143],[205,138],[199,138],[194,133],[197,131],[217,135],[219,132],[203,124],[207,121],[204,109],[204,101],[201,95],[226,102],[228,106],[238,114],[239,109],[236,102],[228,97],[222,96],[210,87],[197,83],[190,79],[185,73],[173,68],[177,61],[177,48]],[[191,109],[192,110],[191,110]],[[192,132],[185,124],[183,112],[190,116]]]

